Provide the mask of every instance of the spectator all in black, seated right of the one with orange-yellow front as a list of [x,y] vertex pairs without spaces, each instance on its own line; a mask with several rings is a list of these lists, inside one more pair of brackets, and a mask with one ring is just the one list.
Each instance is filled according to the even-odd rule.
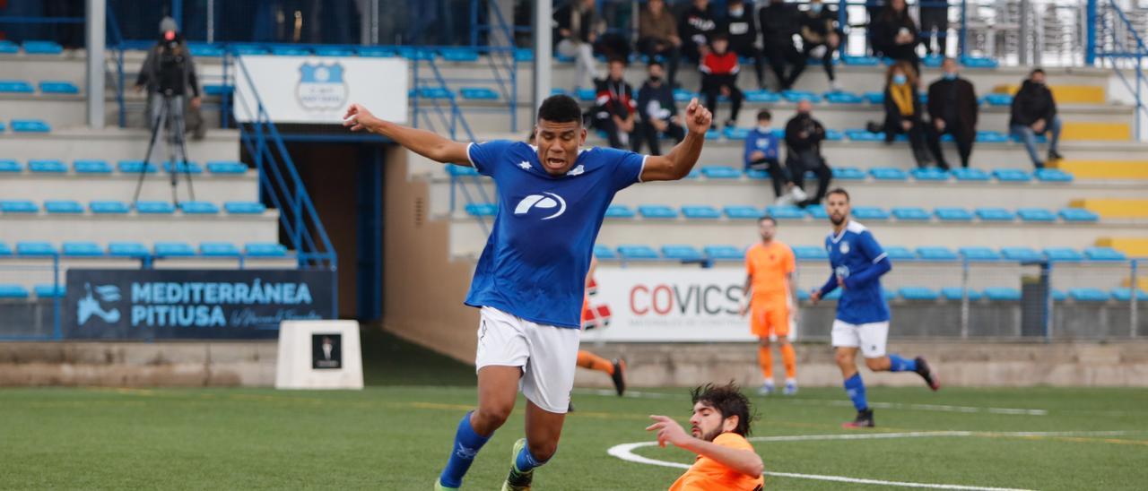
[[932,131],[926,135],[929,150],[937,165],[948,170],[948,162],[940,151],[940,135],[949,133],[956,141],[961,166],[968,169],[972,142],[977,138],[977,91],[972,83],[957,76],[956,60],[945,59],[940,69],[941,79],[929,86],[929,119],[932,123]]

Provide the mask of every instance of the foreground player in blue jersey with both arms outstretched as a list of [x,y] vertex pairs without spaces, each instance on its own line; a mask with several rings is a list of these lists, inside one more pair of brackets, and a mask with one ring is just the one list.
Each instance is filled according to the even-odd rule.
[[558,450],[574,385],[582,301],[594,242],[614,194],[645,181],[677,180],[693,169],[713,115],[695,99],[689,134],[662,156],[582,148],[582,109],[566,95],[538,108],[535,141],[460,143],[381,120],[351,104],[351,131],[390,138],[436,162],[473,166],[497,185],[498,215],[466,304],[481,309],[475,366],[479,406],[458,422],[434,488],[458,489],[482,445],[526,396],[526,438],[514,444],[503,490],[528,490],[534,468]]

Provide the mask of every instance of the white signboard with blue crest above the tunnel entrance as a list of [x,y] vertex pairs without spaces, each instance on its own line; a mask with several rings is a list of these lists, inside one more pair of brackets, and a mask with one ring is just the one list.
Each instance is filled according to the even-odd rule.
[[[235,119],[256,119],[258,100],[276,123],[342,124],[351,102],[406,122],[406,60],[340,56],[242,56],[236,65]],[[250,76],[250,79],[248,79]]]

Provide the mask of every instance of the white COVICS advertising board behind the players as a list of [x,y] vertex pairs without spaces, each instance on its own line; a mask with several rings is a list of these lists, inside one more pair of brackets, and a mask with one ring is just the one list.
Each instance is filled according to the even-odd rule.
[[610,309],[610,325],[582,341],[754,341],[738,312],[739,267],[598,267],[590,306]]

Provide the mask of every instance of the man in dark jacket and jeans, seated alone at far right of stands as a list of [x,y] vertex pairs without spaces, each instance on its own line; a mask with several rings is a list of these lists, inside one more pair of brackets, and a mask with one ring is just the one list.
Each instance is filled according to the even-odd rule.
[[1064,158],[1056,151],[1056,142],[1061,139],[1061,118],[1056,116],[1053,91],[1045,85],[1045,70],[1033,70],[1029,79],[1021,84],[1021,89],[1013,96],[1013,115],[1008,124],[1013,135],[1024,142],[1037,169],[1045,166],[1037,155],[1038,134],[1048,133],[1049,161]]

